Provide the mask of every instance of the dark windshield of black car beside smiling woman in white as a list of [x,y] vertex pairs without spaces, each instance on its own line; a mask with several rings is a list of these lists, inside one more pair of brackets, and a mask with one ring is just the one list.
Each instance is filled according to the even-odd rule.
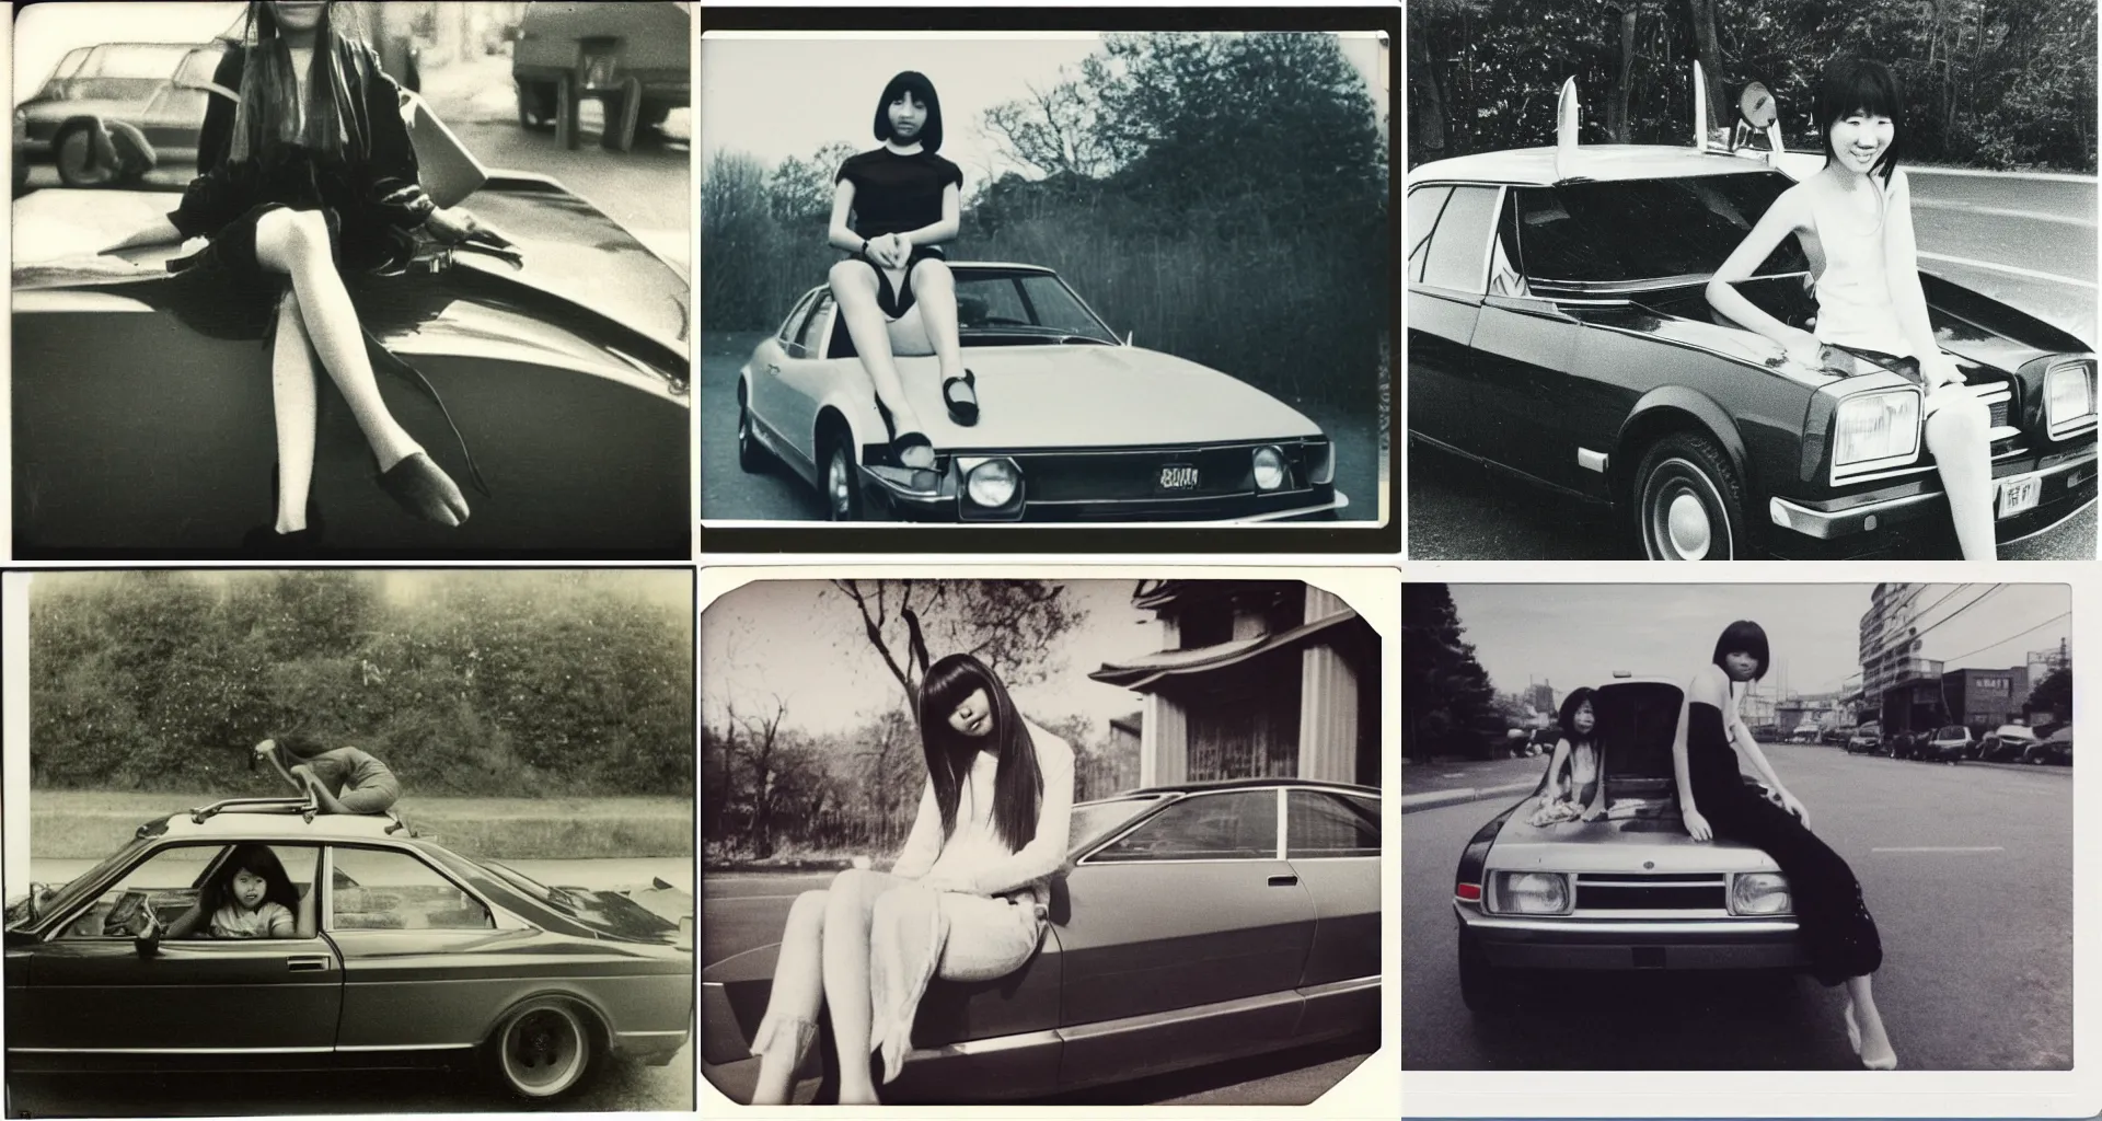
[[[1516,191],[1522,267],[1537,284],[1707,278],[1789,185],[1774,170],[1524,187]],[[1755,276],[1804,269],[1791,236]]]

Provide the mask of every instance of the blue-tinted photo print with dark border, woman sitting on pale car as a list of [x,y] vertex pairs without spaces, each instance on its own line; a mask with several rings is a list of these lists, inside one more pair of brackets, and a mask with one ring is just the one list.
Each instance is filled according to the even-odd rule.
[[1389,524],[1381,13],[1232,32],[1062,15],[704,17],[710,549],[816,522],[948,526],[853,538],[895,549],[1225,526],[1263,551],[1282,538],[1246,530]]

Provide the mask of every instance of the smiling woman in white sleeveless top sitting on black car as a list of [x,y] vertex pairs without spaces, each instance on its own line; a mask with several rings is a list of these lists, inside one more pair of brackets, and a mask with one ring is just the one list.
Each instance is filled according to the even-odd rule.
[[[1715,311],[1780,345],[1797,364],[1827,368],[1825,347],[1892,370],[1925,391],[1925,444],[1949,494],[1963,559],[1995,559],[1991,410],[1934,343],[1919,286],[1913,189],[1898,166],[1904,99],[1890,67],[1833,59],[1814,101],[1825,170],[1789,187],[1709,280]],[[1810,259],[1816,334],[1745,299],[1747,280],[1793,233]],[[1841,368],[1852,368],[1848,362]]]

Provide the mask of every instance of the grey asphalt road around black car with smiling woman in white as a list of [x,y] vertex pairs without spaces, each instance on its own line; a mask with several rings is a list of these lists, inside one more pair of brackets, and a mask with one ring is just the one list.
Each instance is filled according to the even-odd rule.
[[[1913,170],[1921,267],[2096,343],[2096,183]],[[1404,372],[1406,379],[1406,372]],[[1640,559],[1621,519],[1410,448],[1413,559]],[[2096,511],[2001,551],[2001,559],[2094,559]],[[1957,559],[1955,541],[1902,559]]]

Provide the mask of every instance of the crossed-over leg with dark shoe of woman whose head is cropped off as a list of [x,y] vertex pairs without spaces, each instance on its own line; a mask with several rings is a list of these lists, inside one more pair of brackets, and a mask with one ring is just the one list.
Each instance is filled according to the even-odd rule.
[[[357,429],[366,433],[372,456],[380,471],[423,452],[423,446],[393,419],[380,398],[378,381],[372,376],[372,360],[366,355],[366,339],[357,326],[357,309],[351,292],[336,273],[330,257],[328,223],[317,210],[271,210],[256,221],[256,261],[292,278],[292,294],[307,326],[307,339],[328,376],[334,379],[343,400],[357,419]],[[433,517],[458,526],[467,519],[467,496],[444,477],[435,465],[431,471],[441,480],[444,511],[450,517]],[[427,513],[429,515],[429,513]]]

